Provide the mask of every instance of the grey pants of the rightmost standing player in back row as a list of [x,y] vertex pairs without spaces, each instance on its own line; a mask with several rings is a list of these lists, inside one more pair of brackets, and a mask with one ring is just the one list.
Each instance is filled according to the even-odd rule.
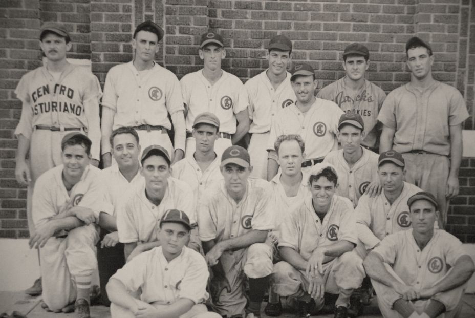
[[450,160],[434,154],[402,154],[406,164],[406,182],[435,195],[439,204],[439,228],[447,224],[449,200],[445,197]]

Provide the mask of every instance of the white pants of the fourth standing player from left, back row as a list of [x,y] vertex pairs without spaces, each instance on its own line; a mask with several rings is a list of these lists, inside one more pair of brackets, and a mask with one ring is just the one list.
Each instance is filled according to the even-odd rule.
[[270,133],[253,133],[249,142],[248,152],[251,157],[251,177],[267,180],[267,143]]

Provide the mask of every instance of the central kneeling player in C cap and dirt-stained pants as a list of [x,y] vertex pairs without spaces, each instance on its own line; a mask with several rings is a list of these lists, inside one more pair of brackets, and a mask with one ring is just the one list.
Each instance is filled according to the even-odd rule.
[[[249,178],[249,153],[231,146],[221,157],[224,181],[201,197],[198,230],[205,258],[212,270],[212,308],[222,316],[261,316],[261,305],[272,272],[272,251],[266,238],[274,228],[272,188]],[[249,282],[246,308],[244,279]]]

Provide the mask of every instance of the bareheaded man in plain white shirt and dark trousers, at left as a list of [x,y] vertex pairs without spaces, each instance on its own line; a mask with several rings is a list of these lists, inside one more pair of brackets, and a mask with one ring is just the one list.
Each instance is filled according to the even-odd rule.
[[119,243],[117,211],[132,196],[134,188],[143,183],[140,175],[139,135],[130,127],[121,127],[112,132],[111,151],[116,165],[100,171],[103,180],[103,207],[99,214],[100,244],[97,246],[97,262],[102,304],[109,306],[105,284],[125,264],[124,244]]

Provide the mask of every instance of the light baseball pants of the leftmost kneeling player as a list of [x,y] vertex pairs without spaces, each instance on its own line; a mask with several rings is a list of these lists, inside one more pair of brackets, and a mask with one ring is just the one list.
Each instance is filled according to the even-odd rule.
[[97,268],[96,225],[73,228],[65,238],[52,237],[41,248],[42,299],[51,310],[76,300],[75,278],[90,276]]

